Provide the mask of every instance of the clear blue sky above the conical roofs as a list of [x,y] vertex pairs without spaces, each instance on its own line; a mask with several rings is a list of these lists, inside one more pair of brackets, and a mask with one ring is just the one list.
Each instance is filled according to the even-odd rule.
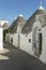
[[[0,20],[6,19],[10,24],[19,14],[29,18],[40,6],[41,0],[0,0]],[[42,0],[46,10],[46,0]]]

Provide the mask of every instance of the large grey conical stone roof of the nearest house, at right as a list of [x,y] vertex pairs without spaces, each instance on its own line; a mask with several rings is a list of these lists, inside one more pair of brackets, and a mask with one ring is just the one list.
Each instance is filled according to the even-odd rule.
[[[41,22],[43,22],[43,19],[44,20],[46,20],[46,11],[44,10],[44,9],[37,9],[35,12],[34,12],[34,14],[26,22],[26,25],[25,25],[25,27],[22,28],[22,33],[29,33],[31,30],[32,30],[32,26],[33,26],[33,24],[34,24],[34,22],[35,22],[35,17],[36,17],[36,15],[42,15],[43,14],[43,18],[41,19],[40,18],[40,20]],[[44,23],[43,23],[44,24]],[[43,24],[42,24],[42,26],[43,26]],[[45,23],[46,24],[46,23]]]

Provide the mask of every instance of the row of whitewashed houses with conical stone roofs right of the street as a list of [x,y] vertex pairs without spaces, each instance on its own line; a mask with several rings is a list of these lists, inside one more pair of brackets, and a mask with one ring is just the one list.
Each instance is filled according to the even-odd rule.
[[14,19],[5,41],[46,62],[46,11],[42,2],[28,20],[22,15]]

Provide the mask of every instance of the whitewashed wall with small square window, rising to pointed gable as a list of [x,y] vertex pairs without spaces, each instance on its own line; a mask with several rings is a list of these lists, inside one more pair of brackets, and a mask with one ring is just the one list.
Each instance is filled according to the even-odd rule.
[[[32,34],[33,34],[33,30],[34,30],[35,27],[39,27],[39,28],[42,27],[37,17],[36,17],[34,24],[33,24],[32,31],[27,37],[26,37],[26,34],[20,33],[20,48],[28,52],[29,54],[32,54],[32,55],[33,55]],[[29,42],[29,39],[31,39],[31,42]]]

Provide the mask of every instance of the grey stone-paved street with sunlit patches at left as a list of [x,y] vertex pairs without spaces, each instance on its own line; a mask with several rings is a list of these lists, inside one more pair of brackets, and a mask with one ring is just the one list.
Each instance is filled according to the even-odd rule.
[[4,43],[4,50],[0,54],[0,70],[46,70],[42,61],[9,43]]

